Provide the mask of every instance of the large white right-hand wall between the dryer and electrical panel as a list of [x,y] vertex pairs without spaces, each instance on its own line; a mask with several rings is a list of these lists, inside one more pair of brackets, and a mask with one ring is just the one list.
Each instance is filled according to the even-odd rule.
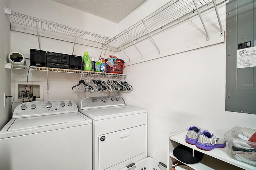
[[[218,6],[224,30],[225,10],[225,4]],[[153,37],[160,55],[150,38],[137,44],[143,59],[133,46],[125,49],[131,62],[124,73],[134,91],[121,96],[126,104],[148,110],[148,156],[165,164],[168,136],[190,126],[216,134],[235,126],[256,128],[256,115],[225,111],[226,43],[214,9],[202,18],[210,41],[196,16]]]

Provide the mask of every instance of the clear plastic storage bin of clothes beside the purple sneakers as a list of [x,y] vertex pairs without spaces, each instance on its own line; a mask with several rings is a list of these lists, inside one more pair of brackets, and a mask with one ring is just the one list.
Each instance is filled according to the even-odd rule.
[[252,128],[234,127],[224,133],[225,140],[228,142],[230,158],[256,167],[256,142],[238,138],[238,135],[248,136],[248,134],[254,134],[255,132],[256,129]]

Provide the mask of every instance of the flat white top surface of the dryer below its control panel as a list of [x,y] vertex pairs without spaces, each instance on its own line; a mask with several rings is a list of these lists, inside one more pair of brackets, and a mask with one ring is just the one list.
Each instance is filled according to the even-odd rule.
[[87,117],[91,118],[94,121],[147,112],[146,109],[140,109],[140,108],[130,107],[130,106],[115,106],[115,107],[105,107],[105,108],[99,108],[99,109],[88,109],[88,110],[78,109],[78,110],[79,112],[83,113],[84,115],[86,115]]

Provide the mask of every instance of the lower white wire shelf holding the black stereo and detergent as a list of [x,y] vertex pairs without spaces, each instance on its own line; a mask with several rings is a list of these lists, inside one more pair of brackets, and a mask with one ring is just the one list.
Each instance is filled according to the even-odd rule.
[[12,69],[24,69],[28,70],[38,70],[38,71],[51,71],[51,72],[62,72],[62,73],[78,73],[89,75],[90,77],[97,77],[100,79],[114,79],[114,80],[122,80],[126,79],[126,74],[116,74],[116,73],[102,73],[102,72],[95,72],[95,71],[83,71],[83,70],[72,70],[72,69],[60,69],[60,68],[50,68],[50,67],[36,67],[36,66],[28,66],[28,65],[13,65]]

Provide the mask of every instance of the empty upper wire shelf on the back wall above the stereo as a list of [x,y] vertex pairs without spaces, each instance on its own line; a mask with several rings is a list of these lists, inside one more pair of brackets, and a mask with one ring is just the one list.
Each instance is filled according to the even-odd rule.
[[81,38],[81,39],[98,42],[102,44],[105,42],[105,40],[110,40],[110,38],[105,36],[79,30],[69,26],[64,26],[62,24],[57,24],[47,20],[42,20],[32,16],[20,14],[14,11],[11,12],[11,21],[14,24],[19,24],[23,26],[32,27],[32,28],[38,27],[38,29],[41,29],[41,30],[50,31],[58,34],[64,34],[66,36],[72,36],[72,37]]

